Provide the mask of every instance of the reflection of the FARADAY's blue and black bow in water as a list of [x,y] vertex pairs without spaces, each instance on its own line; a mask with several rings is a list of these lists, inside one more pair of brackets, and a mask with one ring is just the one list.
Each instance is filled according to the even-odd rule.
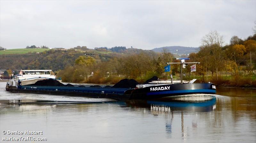
[[[160,99],[161,100],[161,99]],[[150,109],[150,113],[154,116],[159,114],[171,115],[166,117],[165,128],[167,137],[171,138],[172,133],[172,121],[174,113],[181,115],[181,132],[183,140],[187,136],[187,127],[184,128],[184,113],[183,112],[211,112],[216,109],[216,97],[212,95],[201,95],[200,97],[192,96],[179,96],[175,98],[169,98],[168,102],[164,101],[130,101],[126,102],[127,105],[136,107],[138,110]],[[192,127],[197,128],[197,121],[192,121]]]

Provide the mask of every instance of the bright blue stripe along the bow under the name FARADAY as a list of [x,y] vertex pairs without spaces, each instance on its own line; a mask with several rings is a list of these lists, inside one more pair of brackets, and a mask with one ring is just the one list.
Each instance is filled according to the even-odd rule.
[[147,95],[159,95],[159,94],[177,94],[177,93],[216,93],[213,89],[190,89],[190,90],[172,90],[172,91],[160,91],[160,92],[149,92]]

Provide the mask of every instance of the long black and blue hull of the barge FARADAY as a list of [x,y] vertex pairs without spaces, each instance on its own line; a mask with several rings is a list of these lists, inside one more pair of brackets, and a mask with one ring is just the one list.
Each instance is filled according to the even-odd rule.
[[[92,87],[58,87],[58,86],[18,86],[6,85],[6,91],[13,93],[36,93],[50,95],[84,96],[93,98],[111,98],[115,100],[149,100],[187,94],[215,94],[212,83],[166,84],[145,88],[92,88]],[[152,88],[163,89],[152,91]],[[166,90],[164,90],[166,89]]]

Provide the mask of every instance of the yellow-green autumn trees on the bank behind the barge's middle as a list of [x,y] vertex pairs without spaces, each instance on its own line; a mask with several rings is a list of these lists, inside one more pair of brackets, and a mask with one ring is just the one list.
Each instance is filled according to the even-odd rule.
[[123,78],[134,78],[142,82],[154,75],[164,74],[166,61],[172,59],[172,54],[167,51],[156,53],[146,50],[138,54],[112,57],[108,61],[97,61],[83,55],[76,59],[74,65],[61,70],[58,76],[66,82],[116,83]]

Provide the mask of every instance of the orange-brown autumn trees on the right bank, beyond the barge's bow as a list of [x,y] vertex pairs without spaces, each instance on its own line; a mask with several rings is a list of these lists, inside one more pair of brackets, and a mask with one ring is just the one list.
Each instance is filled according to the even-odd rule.
[[202,75],[202,81],[211,76],[217,84],[256,86],[256,34],[244,40],[233,36],[224,45],[220,33],[211,31],[201,42],[200,51],[189,57],[190,61],[200,61],[196,73]]

